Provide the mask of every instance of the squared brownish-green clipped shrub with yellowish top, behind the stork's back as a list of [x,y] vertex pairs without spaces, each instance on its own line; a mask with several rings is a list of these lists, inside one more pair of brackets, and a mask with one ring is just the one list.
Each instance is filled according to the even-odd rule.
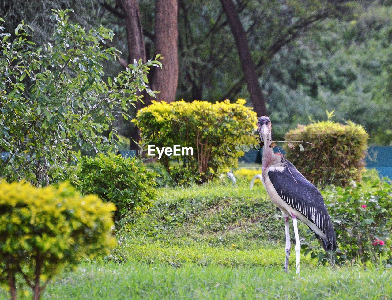
[[303,144],[305,151],[298,147],[290,149],[285,144],[285,156],[313,184],[345,186],[351,179],[361,179],[368,138],[363,126],[352,122],[298,125],[286,134],[285,140],[312,144]]

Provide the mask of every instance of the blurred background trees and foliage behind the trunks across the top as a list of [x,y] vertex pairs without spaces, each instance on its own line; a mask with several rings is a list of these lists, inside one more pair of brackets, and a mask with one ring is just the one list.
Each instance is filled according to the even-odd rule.
[[[35,42],[50,41],[51,8],[73,8],[73,21],[89,29],[103,24],[115,33],[113,46],[127,57],[123,0],[5,1],[6,31],[24,19]],[[154,57],[155,1],[139,0],[147,59]],[[236,0],[276,138],[297,124],[352,120],[365,126],[370,144],[392,144],[392,1]],[[110,45],[112,46],[112,45]],[[165,62],[163,61],[163,66]],[[122,70],[107,62],[105,74]],[[222,5],[178,0],[178,87],[176,99],[215,102],[246,98],[236,44]],[[134,113],[134,112],[133,112]],[[120,122],[130,137],[133,125]]]

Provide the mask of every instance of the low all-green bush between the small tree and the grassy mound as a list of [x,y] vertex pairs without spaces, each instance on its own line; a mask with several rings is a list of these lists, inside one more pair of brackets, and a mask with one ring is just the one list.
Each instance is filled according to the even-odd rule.
[[127,217],[151,206],[155,199],[155,177],[156,173],[136,158],[98,154],[79,160],[74,183],[83,194],[96,194],[103,201],[114,203],[114,222],[121,227]]

